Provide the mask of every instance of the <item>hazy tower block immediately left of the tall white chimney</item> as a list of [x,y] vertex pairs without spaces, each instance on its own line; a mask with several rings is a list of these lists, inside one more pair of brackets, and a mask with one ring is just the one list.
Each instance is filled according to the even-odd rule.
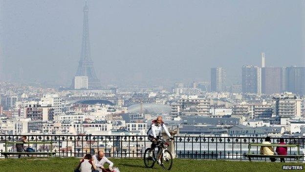
[[241,70],[242,93],[261,93],[261,68],[252,65]]

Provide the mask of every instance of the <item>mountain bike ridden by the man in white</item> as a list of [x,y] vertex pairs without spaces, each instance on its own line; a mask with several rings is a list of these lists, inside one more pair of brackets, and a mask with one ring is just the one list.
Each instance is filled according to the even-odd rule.
[[[157,161],[156,157],[162,153],[160,159],[161,164],[159,164],[159,166],[161,166],[163,170],[171,170],[174,160],[172,153],[167,150],[167,147],[169,146],[168,142],[171,142],[171,139],[159,139],[158,145],[154,150],[152,150],[150,147],[145,150],[144,165],[146,168],[152,168],[154,163]],[[157,150],[157,152],[155,150]],[[152,156],[150,156],[151,151],[153,151]]]

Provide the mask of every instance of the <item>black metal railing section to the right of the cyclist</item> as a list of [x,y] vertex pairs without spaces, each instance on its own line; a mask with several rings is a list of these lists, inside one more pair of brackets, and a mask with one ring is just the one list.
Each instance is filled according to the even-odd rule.
[[[271,138],[271,143],[279,143],[280,138]],[[249,151],[249,143],[261,143],[262,137],[175,137],[175,153],[178,158],[191,159],[223,159],[223,160],[248,160],[244,156]],[[305,146],[305,138],[284,138],[286,144],[300,146],[300,154],[304,160],[302,149]],[[260,147],[251,147],[250,153],[260,154]],[[297,147],[289,147],[288,155],[297,154]],[[268,158],[253,158],[258,161],[269,161]],[[295,161],[287,158],[287,161]]]

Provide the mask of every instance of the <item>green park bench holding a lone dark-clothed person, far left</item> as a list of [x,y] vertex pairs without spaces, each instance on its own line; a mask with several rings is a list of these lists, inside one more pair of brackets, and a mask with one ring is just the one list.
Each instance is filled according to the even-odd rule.
[[[17,152],[17,151],[7,151],[7,146],[8,145],[16,145],[16,144],[50,144],[50,151],[47,151],[47,152]],[[47,155],[47,156],[52,156],[54,155],[56,152],[52,152],[52,144],[53,142],[40,142],[40,141],[28,141],[26,143],[23,143],[23,142],[18,142],[18,141],[6,141],[5,142],[5,151],[4,152],[1,152],[2,155],[5,156],[5,158],[8,157],[8,155]]]

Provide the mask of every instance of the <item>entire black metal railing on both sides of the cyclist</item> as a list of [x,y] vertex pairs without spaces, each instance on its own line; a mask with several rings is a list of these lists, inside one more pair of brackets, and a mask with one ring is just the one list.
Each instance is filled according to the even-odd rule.
[[[21,135],[0,135],[0,152],[3,152],[5,141],[17,141]],[[280,138],[271,138],[271,143],[278,143]],[[55,152],[57,157],[83,157],[86,153],[97,153],[102,149],[108,157],[140,158],[151,142],[147,136],[122,135],[27,135],[28,141],[53,142],[52,149],[48,144],[24,144],[36,151]],[[204,137],[204,136],[175,136],[174,153],[177,158],[190,159],[223,159],[248,160],[243,154],[248,153],[249,143],[261,143],[261,137]],[[304,160],[305,138],[284,138],[287,144],[300,146],[300,153]],[[7,151],[16,151],[10,145]],[[260,153],[259,147],[251,147],[251,153]],[[289,147],[287,154],[297,153],[297,147]],[[46,155],[41,155],[46,156]],[[0,157],[4,157],[0,155]],[[267,158],[256,158],[258,161],[268,161]],[[286,161],[295,161],[287,158]]]

